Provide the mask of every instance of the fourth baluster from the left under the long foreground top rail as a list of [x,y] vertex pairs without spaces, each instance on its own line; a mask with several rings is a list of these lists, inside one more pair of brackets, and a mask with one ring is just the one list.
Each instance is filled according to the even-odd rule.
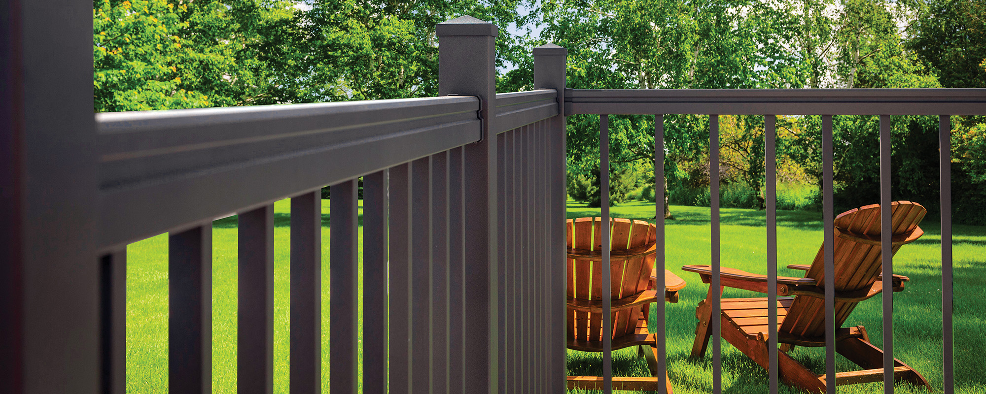
[[291,198],[291,393],[321,393],[321,191]]

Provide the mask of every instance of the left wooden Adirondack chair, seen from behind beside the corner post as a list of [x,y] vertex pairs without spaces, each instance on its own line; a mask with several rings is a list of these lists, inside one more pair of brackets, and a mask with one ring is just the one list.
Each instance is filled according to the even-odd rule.
[[[602,293],[611,295],[612,350],[637,346],[652,376],[658,372],[657,340],[647,329],[654,289],[656,227],[643,221],[611,221],[610,285],[601,285],[601,218],[568,220],[568,349],[602,352]],[[665,270],[665,300],[677,302],[684,281]],[[667,380],[668,393],[671,385]],[[615,390],[658,390],[657,377],[613,377]],[[569,389],[601,389],[600,376],[569,376]]]

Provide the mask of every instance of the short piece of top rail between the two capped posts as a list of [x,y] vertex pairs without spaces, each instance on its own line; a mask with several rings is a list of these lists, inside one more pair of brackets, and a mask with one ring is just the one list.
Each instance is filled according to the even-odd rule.
[[501,93],[496,96],[496,132],[558,115],[558,93],[554,90]]

